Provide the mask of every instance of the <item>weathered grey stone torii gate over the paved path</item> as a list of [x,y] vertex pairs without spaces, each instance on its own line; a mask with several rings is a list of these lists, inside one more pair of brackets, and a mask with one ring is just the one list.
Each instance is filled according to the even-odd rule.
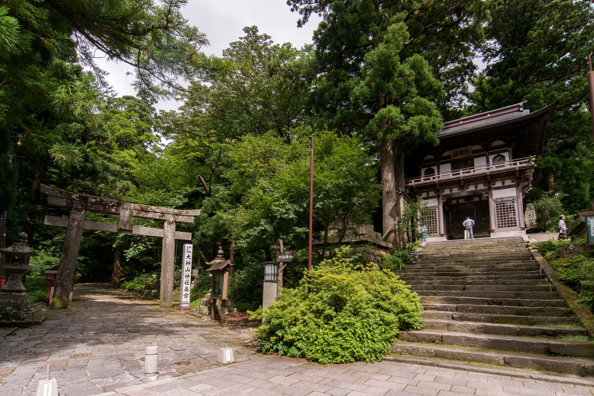
[[[44,221],[44,224],[49,226],[66,227],[66,237],[64,239],[64,245],[62,245],[62,255],[60,256],[56,286],[50,308],[68,307],[68,297],[74,283],[76,260],[83,230],[162,237],[161,306],[172,306],[175,240],[192,240],[192,233],[176,231],[175,223],[193,223],[194,217],[200,214],[200,209],[179,210],[159,208],[149,205],[130,204],[128,202],[116,201],[115,199],[74,194],[72,192],[50,188],[46,185],[41,185],[40,188],[43,194],[48,194],[49,205],[71,208],[70,216],[46,216]],[[85,220],[87,211],[118,214],[119,222],[118,224],[113,224]],[[133,226],[133,217],[163,220],[163,228]]]

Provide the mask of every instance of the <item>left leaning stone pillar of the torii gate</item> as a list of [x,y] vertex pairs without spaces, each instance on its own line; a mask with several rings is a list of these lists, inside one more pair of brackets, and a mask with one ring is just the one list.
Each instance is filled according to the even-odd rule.
[[49,308],[68,308],[68,300],[72,286],[80,241],[83,237],[84,218],[87,211],[83,208],[72,208],[66,227],[66,236],[62,245],[62,255],[58,267],[58,277]]

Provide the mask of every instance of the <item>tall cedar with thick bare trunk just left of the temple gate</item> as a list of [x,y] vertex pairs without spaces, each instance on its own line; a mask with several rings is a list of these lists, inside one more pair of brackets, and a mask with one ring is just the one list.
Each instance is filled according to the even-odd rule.
[[[383,232],[402,213],[404,160],[419,142],[437,144],[440,109],[460,106],[475,66],[470,45],[482,39],[482,1],[288,0],[314,32],[318,77],[312,102],[321,122],[364,132],[379,147]],[[446,81],[444,85],[439,80]]]

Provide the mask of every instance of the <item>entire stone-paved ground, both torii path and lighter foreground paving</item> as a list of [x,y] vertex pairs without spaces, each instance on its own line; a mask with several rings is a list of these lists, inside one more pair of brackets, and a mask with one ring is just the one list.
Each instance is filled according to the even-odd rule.
[[[64,311],[7,335],[0,329],[0,395],[33,394],[46,365],[60,395],[403,395],[594,396],[594,381],[573,384],[481,374],[398,362],[319,365],[263,356],[239,328],[160,309],[108,284],[81,284]],[[159,377],[143,376],[144,347],[159,345]],[[233,347],[236,363],[220,367],[216,351]],[[558,378],[564,381],[563,378]]]

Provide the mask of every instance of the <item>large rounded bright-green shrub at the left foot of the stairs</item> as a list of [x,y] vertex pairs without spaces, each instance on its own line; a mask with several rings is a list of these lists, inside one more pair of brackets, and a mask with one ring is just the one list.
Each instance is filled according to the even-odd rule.
[[400,330],[421,329],[421,303],[394,274],[356,264],[340,251],[264,310],[256,331],[263,351],[320,363],[372,362],[385,356]]

